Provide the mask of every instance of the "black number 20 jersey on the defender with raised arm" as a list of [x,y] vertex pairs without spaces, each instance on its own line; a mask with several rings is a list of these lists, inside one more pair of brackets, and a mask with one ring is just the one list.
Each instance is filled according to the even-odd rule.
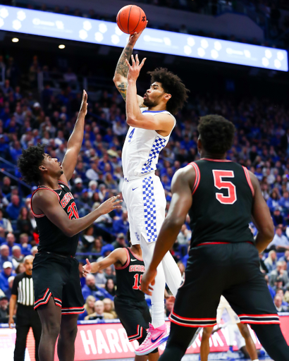
[[[50,188],[39,185],[37,190],[32,194],[31,197],[31,209],[32,209],[32,198],[35,193],[40,189],[50,190],[56,193],[59,204],[66,212],[69,219],[78,219],[78,209],[76,207],[73,195],[70,192],[68,185],[64,182],[59,181],[59,188],[51,190]],[[32,209],[33,212],[33,209]],[[76,248],[78,247],[78,234],[73,237],[65,235],[58,227],[55,226],[45,214],[35,214],[33,212],[39,231],[39,252],[52,252],[59,255],[74,256]]]

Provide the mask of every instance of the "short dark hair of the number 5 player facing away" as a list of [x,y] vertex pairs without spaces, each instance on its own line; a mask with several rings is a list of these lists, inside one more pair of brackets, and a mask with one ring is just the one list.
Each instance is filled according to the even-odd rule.
[[235,126],[223,116],[201,116],[197,130],[204,149],[211,154],[224,154],[233,145]]

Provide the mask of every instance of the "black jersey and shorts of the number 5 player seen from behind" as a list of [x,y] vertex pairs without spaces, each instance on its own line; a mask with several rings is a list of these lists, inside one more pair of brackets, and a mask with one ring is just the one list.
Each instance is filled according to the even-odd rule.
[[279,324],[249,229],[254,195],[249,172],[226,160],[201,159],[191,166],[196,172],[191,247],[171,322],[214,326],[223,295],[240,322]]

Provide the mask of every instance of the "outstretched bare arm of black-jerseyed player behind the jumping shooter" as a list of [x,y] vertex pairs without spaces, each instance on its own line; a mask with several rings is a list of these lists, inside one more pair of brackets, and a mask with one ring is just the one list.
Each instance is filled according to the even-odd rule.
[[106,269],[106,267],[111,266],[111,264],[125,264],[128,260],[127,252],[125,248],[118,248],[112,251],[107,257],[102,259],[99,262],[90,263],[89,259],[86,259],[85,266],[82,267],[83,276],[87,276],[87,274],[92,273],[95,274],[102,269]]

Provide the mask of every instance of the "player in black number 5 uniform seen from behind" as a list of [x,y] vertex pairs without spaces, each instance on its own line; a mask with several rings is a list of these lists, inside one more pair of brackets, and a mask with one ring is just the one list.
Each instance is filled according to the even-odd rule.
[[[259,252],[274,235],[269,208],[259,181],[245,167],[226,160],[235,127],[222,116],[201,118],[197,147],[201,159],[173,176],[172,200],[154,249],[152,263],[142,276],[142,290],[156,288],[157,267],[175,242],[187,213],[192,238],[185,282],[171,312],[171,334],[160,361],[179,361],[197,327],[214,326],[223,295],[250,324],[273,360],[288,361],[273,300],[259,269]],[[248,224],[254,222],[254,240]]]

